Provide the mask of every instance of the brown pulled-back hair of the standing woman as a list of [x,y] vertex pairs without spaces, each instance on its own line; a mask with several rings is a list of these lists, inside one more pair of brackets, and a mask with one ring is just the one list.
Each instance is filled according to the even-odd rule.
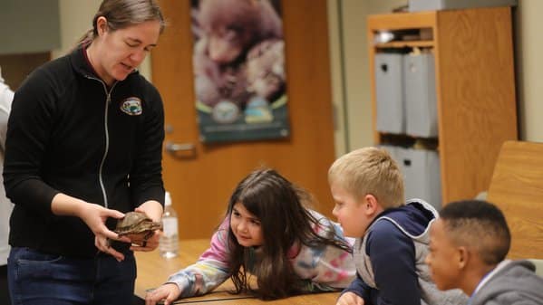
[[153,20],[160,22],[160,33],[166,26],[160,6],[155,0],[103,0],[92,18],[92,29],[82,36],[78,44],[91,43],[98,36],[96,21],[102,16],[107,19],[112,31]]

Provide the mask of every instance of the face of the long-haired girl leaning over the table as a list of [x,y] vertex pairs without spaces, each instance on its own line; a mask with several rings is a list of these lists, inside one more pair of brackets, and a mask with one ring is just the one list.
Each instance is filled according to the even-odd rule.
[[260,220],[247,211],[244,205],[238,203],[230,214],[230,228],[238,243],[244,247],[255,247],[264,243]]

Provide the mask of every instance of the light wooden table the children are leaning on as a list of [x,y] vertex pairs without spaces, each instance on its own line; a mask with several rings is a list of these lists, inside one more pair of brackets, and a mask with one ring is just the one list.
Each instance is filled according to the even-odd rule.
[[[165,259],[160,257],[159,251],[150,253],[136,253],[138,263],[138,278],[134,294],[136,297],[144,299],[147,290],[159,287],[163,284],[170,274],[178,272],[180,269],[196,262],[199,255],[209,246],[208,239],[183,240],[179,241],[179,256]],[[257,300],[246,294],[230,294],[228,291],[234,287],[231,281],[226,281],[215,291],[212,291],[201,297],[181,299],[176,304],[191,305],[317,305],[317,304],[335,304],[339,292],[326,292],[306,294],[283,300]],[[136,301],[136,303],[138,303]]]

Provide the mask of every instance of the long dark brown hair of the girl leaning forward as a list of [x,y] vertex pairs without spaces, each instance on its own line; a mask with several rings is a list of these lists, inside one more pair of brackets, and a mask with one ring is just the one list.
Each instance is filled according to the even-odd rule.
[[[234,205],[244,205],[259,219],[264,244],[257,250],[246,248],[229,229],[228,260],[234,293],[248,292],[264,300],[301,293],[303,282],[287,257],[295,244],[315,248],[333,245],[350,251],[348,244],[335,239],[333,227],[324,228],[329,232],[326,237],[315,234],[313,226],[318,220],[304,206],[309,201],[309,194],[272,169],[254,171],[238,184],[230,197],[228,219]],[[256,276],[257,288],[250,285],[247,272]]]

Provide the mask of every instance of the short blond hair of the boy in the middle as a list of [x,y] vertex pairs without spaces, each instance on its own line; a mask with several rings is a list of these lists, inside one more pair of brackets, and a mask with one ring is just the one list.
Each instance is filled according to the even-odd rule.
[[403,205],[402,172],[383,148],[360,148],[339,157],[328,170],[328,183],[356,200],[371,194],[383,209]]

